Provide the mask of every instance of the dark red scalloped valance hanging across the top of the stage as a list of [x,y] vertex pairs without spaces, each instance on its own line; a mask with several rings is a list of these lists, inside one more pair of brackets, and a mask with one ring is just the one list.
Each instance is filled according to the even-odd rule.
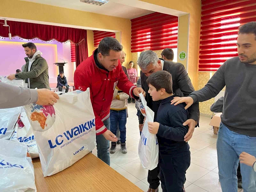
[[[4,22],[4,20],[0,20]],[[7,21],[10,26],[12,36],[19,36],[24,39],[38,38],[43,41],[50,41],[55,39],[59,42],[66,42],[70,40],[75,44],[79,44],[86,37],[86,30],[68,28],[68,27],[57,27],[52,25],[42,25],[35,23],[25,23],[18,21]],[[8,37],[9,28],[0,25],[0,36]]]

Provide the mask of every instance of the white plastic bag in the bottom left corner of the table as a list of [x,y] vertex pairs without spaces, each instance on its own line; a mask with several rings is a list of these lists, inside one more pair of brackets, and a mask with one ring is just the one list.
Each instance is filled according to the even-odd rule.
[[0,139],[0,191],[35,192],[32,159],[24,143]]

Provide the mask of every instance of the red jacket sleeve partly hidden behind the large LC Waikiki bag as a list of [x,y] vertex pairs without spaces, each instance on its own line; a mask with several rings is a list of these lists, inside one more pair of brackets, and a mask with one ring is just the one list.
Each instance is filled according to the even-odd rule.
[[[83,73],[81,73],[79,71],[75,71],[75,74],[74,74],[75,87],[81,87],[82,90],[86,90],[89,87],[90,88],[90,98],[91,98],[91,102],[93,103],[91,81],[89,79],[90,79],[90,77],[88,77],[88,76],[85,77],[85,75]],[[106,132],[107,128],[101,121],[100,116],[94,110],[93,110],[93,112],[94,112],[94,116],[95,116],[96,135],[100,135],[100,134]]]

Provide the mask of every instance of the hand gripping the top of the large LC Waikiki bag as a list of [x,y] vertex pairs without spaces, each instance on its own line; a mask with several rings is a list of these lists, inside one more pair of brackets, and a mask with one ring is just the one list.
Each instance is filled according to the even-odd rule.
[[59,96],[49,89],[37,89],[38,100],[37,105],[54,105],[57,103],[57,99],[60,99]]

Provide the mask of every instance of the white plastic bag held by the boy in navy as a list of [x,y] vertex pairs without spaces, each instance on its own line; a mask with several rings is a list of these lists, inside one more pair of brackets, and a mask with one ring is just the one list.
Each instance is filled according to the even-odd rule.
[[143,169],[153,170],[158,164],[158,142],[156,134],[148,131],[148,122],[154,122],[154,112],[147,106],[147,102],[140,93],[140,112],[146,117],[141,135],[138,153]]

